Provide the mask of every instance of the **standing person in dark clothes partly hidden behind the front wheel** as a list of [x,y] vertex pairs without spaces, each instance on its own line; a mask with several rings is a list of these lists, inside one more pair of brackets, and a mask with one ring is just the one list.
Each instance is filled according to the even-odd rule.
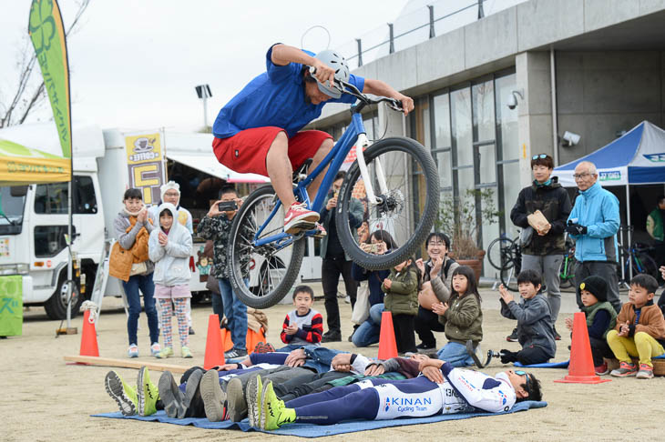
[[[335,176],[333,188],[326,197],[320,214],[322,226],[327,233],[321,240],[321,282],[323,296],[325,297],[325,316],[328,321],[328,331],[323,334],[321,342],[342,340],[340,307],[337,304],[337,285],[340,275],[342,275],[344,280],[346,295],[351,298],[352,308],[355,304],[355,296],[358,290],[358,283],[351,276],[351,257],[344,252],[342,243],[337,236],[337,226],[335,225],[334,209],[337,207],[337,196],[342,187],[344,176],[345,172],[343,171],[338,172]],[[363,215],[363,203],[352,197],[349,202],[349,225],[353,236],[356,236],[356,229],[363,224]]]

